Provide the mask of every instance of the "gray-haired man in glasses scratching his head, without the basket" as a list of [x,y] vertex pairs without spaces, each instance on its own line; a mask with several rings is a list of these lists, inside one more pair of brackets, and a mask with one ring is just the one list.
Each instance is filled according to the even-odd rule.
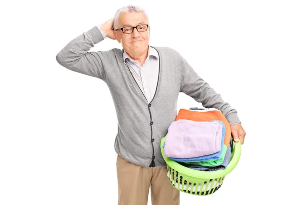
[[[243,144],[246,134],[237,111],[177,51],[149,46],[149,37],[146,12],[126,6],[71,40],[56,60],[69,70],[104,80],[109,88],[118,117],[114,149],[119,204],[147,204],[149,188],[152,204],[180,204],[180,192],[168,181],[160,151],[160,141],[177,116],[179,92],[220,110],[235,141]],[[123,49],[89,51],[105,38],[117,39]]]

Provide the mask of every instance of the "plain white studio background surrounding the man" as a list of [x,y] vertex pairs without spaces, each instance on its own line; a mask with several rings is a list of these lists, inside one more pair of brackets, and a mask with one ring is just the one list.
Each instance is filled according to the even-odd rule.
[[[247,133],[222,187],[181,193],[181,204],[305,204],[308,7],[269,0],[2,4],[0,204],[117,204],[110,92],[55,56],[128,4],[147,11],[150,45],[179,51],[237,109]],[[115,47],[106,39],[91,51]],[[179,109],[195,106],[180,93]]]

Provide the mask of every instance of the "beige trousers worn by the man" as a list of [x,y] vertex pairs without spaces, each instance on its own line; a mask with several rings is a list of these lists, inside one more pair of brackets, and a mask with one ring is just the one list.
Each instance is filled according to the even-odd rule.
[[152,205],[179,205],[180,191],[167,177],[166,167],[142,167],[117,157],[119,205],[147,205],[151,187]]

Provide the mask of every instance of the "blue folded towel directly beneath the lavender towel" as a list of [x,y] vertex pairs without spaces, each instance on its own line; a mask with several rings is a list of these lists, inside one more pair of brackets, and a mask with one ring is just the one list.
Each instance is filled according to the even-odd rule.
[[[170,157],[170,159],[174,160],[174,161],[180,161],[180,162],[197,162],[197,161],[205,161],[205,160],[216,160],[219,159],[222,153],[222,147],[223,147],[223,141],[224,141],[224,137],[225,137],[225,133],[226,133],[226,128],[223,124],[222,121],[220,120],[211,120],[211,121],[217,121],[219,122],[220,125],[222,125],[222,136],[221,136],[221,149],[219,152],[216,152],[214,154],[210,154],[210,155],[204,155],[204,156],[200,156],[200,157],[190,157],[190,158],[175,158],[175,157]],[[167,137],[166,137],[167,140]],[[163,148],[165,148],[165,144],[166,141],[163,144]]]

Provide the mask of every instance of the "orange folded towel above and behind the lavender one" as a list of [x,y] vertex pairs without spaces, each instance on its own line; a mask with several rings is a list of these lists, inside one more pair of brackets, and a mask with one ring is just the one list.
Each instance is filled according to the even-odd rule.
[[175,121],[179,119],[189,119],[189,120],[194,120],[194,121],[209,121],[209,120],[222,121],[226,128],[223,144],[227,147],[229,146],[230,139],[231,139],[230,124],[227,118],[219,110],[200,112],[200,111],[195,111],[195,110],[180,109]]

